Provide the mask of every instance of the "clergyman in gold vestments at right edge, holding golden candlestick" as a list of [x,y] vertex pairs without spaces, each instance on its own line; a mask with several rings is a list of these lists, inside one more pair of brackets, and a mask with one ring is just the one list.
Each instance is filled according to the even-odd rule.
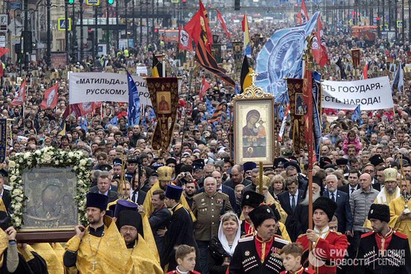
[[403,194],[400,197],[389,203],[390,220],[388,225],[394,230],[407,235],[408,243],[411,246],[411,213],[404,213],[405,204],[408,206],[408,209],[411,209],[411,199],[406,203],[403,197],[409,197],[411,195],[411,184],[409,180],[402,180],[401,192]]

